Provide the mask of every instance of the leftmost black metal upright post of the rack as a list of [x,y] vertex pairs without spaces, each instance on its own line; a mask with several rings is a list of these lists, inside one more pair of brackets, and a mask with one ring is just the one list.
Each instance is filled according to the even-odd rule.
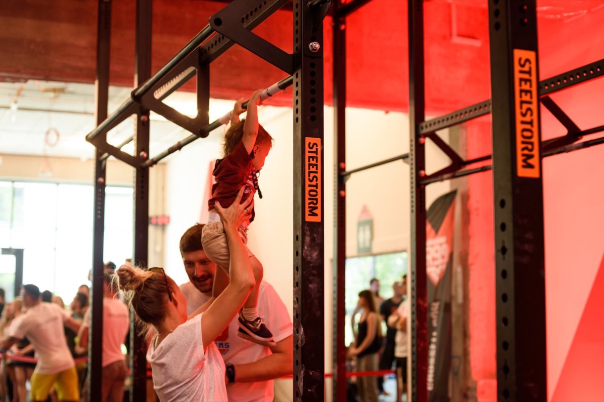
[[[111,43],[111,1],[98,0],[97,77],[95,80],[95,121],[107,118],[109,97],[109,48]],[[107,133],[104,132],[106,137]],[[88,333],[88,400],[101,400],[103,359],[103,243],[105,225],[106,159],[95,149],[94,222],[92,246],[91,324]]]

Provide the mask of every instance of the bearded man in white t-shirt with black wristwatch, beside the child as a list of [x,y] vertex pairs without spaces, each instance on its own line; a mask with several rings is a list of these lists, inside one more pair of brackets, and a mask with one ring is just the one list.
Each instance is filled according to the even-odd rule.
[[[189,315],[211,299],[216,274],[216,264],[208,259],[201,244],[203,227],[202,224],[196,224],[188,228],[180,241],[182,263],[191,280],[180,287],[187,299]],[[265,280],[260,283],[258,312],[271,328],[275,346],[259,345],[237,336],[237,318],[234,318],[214,341],[226,363],[226,393],[231,402],[272,401],[274,378],[292,374],[292,321],[287,307],[271,284]]]

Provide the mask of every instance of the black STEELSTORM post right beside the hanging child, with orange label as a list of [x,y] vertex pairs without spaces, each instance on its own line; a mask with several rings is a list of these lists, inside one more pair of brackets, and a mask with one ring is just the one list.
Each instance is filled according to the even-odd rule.
[[323,22],[313,25],[307,0],[293,14],[294,399],[323,401]]

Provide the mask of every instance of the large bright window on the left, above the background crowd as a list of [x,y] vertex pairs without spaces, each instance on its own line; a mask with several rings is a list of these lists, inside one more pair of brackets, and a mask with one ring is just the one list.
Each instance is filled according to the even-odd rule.
[[[131,187],[106,187],[103,260],[132,256],[132,201]],[[92,185],[0,181],[0,247],[24,249],[23,283],[65,304],[89,284],[93,206]]]

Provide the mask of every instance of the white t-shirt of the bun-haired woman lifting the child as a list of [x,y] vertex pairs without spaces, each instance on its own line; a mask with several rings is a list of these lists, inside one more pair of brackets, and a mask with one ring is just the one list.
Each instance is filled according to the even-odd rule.
[[203,314],[178,325],[155,348],[150,342],[147,360],[153,372],[153,389],[161,402],[227,401],[225,363],[216,345],[204,353],[201,338]]

